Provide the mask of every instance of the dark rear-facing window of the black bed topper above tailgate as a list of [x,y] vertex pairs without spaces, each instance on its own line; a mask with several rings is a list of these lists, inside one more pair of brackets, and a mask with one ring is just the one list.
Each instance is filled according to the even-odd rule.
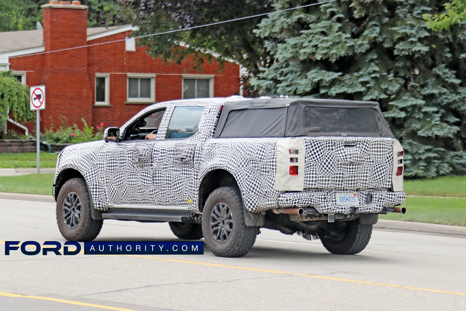
[[312,133],[378,133],[372,108],[304,107],[304,130]]

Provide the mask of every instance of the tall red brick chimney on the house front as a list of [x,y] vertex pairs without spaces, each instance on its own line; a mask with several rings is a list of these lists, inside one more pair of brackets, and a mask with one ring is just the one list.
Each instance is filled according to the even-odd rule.
[[80,1],[49,1],[41,8],[46,52],[41,82],[47,93],[42,126],[60,125],[60,115],[67,116],[69,125],[81,128],[81,118],[92,124],[88,48],[76,48],[87,45],[88,7]]

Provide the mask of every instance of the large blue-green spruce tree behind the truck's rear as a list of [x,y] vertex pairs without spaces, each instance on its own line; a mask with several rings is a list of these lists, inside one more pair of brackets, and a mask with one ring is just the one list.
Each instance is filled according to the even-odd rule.
[[[278,0],[276,9],[305,3]],[[439,0],[340,0],[269,15],[264,95],[377,101],[405,149],[405,176],[466,173],[466,28],[432,32]]]

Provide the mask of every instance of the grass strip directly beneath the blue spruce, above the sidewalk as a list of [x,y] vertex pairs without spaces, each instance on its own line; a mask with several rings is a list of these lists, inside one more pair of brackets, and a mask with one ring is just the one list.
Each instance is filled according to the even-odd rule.
[[446,176],[424,180],[405,180],[408,195],[433,195],[466,198],[466,176]]

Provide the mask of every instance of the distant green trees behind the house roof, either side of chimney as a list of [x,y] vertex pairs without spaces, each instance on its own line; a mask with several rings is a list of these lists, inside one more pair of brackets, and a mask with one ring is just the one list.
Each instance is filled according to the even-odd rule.
[[[88,27],[130,24],[134,13],[123,0],[82,0],[88,9]],[[48,0],[0,0],[0,31],[36,29],[42,22],[41,5]]]

